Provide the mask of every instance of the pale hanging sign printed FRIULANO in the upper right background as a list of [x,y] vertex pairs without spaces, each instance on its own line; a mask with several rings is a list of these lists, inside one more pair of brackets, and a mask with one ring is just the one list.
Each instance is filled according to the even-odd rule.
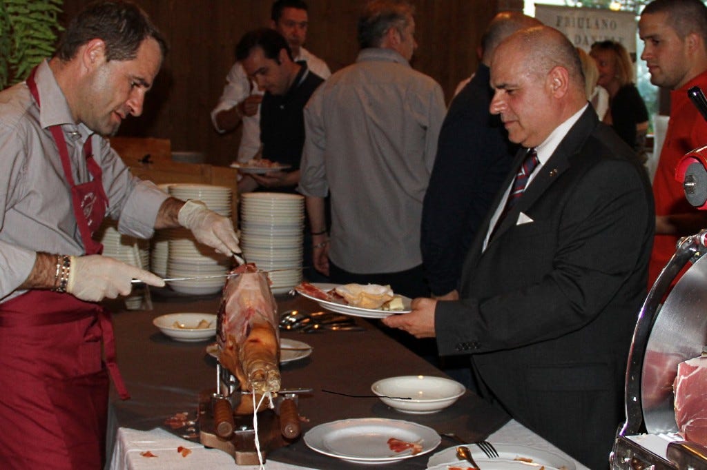
[[560,30],[585,51],[595,42],[612,40],[636,56],[636,14],[631,11],[535,4],[535,18]]

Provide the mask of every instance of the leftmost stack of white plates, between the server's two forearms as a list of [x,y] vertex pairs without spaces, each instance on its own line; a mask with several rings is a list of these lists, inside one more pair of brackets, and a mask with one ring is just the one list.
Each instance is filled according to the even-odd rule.
[[[103,255],[110,256],[110,258],[115,258],[128,265],[149,270],[149,242],[120,234],[117,225],[115,220],[105,219],[98,233],[95,234],[95,239],[103,243]],[[125,306],[129,310],[137,310],[142,304],[142,299],[142,294],[127,296],[125,298]]]

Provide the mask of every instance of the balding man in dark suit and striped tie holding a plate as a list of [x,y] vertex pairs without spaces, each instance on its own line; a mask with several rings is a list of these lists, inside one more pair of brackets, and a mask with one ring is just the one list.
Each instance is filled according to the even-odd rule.
[[440,354],[471,353],[483,397],[605,469],[654,216],[645,171],[597,121],[583,81],[557,30],[499,45],[491,112],[525,148],[467,254],[461,300],[415,299],[412,313],[384,321],[436,336]]

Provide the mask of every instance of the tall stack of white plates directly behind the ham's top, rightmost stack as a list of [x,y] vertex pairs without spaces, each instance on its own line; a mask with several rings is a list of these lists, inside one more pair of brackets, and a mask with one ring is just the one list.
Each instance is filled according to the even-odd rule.
[[304,198],[298,194],[241,196],[241,248],[245,259],[269,271],[274,294],[302,282]]

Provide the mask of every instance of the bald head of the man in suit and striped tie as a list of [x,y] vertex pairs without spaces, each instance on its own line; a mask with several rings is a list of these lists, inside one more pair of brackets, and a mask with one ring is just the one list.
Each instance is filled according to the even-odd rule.
[[498,44],[491,63],[496,90],[490,111],[500,114],[508,138],[537,147],[587,104],[582,64],[558,30],[536,26]]

